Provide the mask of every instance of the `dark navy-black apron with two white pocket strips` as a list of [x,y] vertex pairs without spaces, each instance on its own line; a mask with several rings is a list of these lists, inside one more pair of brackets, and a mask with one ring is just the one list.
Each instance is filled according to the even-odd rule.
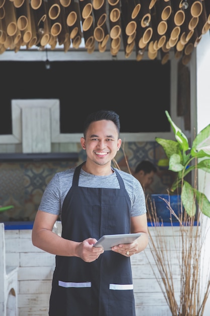
[[[62,237],[81,242],[129,233],[131,202],[117,170],[120,189],[79,187],[82,165],[63,201]],[[93,262],[55,258],[50,316],[135,316],[129,257],[108,250]]]

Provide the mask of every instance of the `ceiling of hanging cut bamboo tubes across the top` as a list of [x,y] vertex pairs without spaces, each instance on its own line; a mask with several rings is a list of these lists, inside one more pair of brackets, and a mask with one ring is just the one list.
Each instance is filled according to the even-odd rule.
[[210,0],[0,0],[0,54],[83,46],[186,65],[209,27]]

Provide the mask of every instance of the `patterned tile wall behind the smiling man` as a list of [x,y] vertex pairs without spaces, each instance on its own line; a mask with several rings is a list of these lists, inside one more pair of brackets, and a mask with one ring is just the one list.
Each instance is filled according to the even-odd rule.
[[[86,151],[78,144],[78,162],[10,162],[0,163],[0,204],[14,208],[0,213],[0,221],[33,221],[43,191],[52,176],[59,171],[77,166],[86,160]],[[125,158],[126,156],[126,158]],[[115,157],[119,168],[131,173],[142,160],[150,160],[156,166],[165,154],[156,142],[127,142]],[[114,166],[114,164],[113,164]],[[173,175],[167,169],[159,169],[154,182],[146,193],[167,193]]]

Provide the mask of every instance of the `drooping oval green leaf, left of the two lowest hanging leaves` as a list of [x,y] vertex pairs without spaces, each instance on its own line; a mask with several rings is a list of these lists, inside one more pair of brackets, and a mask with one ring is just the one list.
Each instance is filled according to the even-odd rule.
[[184,206],[185,212],[189,216],[194,216],[196,213],[194,189],[187,181],[184,181],[184,184],[182,187],[181,200],[182,200],[182,204]]

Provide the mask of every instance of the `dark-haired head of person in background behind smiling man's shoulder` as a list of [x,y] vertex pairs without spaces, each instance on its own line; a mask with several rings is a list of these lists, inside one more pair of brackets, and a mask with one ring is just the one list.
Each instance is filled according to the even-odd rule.
[[146,190],[153,182],[156,173],[156,166],[148,160],[143,160],[136,166],[133,176],[141,183],[143,189]]

